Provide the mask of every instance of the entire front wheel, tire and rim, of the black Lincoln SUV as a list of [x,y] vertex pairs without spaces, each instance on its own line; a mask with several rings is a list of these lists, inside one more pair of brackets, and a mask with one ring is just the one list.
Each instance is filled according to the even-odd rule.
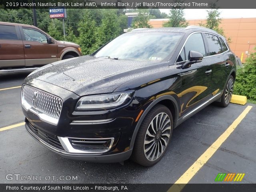
[[[156,119],[158,127],[160,127],[158,129],[156,128]],[[152,125],[156,133],[154,133]],[[166,152],[172,137],[172,129],[173,120],[170,110],[162,104],[154,106],[140,125],[131,159],[142,166],[156,164]]]

